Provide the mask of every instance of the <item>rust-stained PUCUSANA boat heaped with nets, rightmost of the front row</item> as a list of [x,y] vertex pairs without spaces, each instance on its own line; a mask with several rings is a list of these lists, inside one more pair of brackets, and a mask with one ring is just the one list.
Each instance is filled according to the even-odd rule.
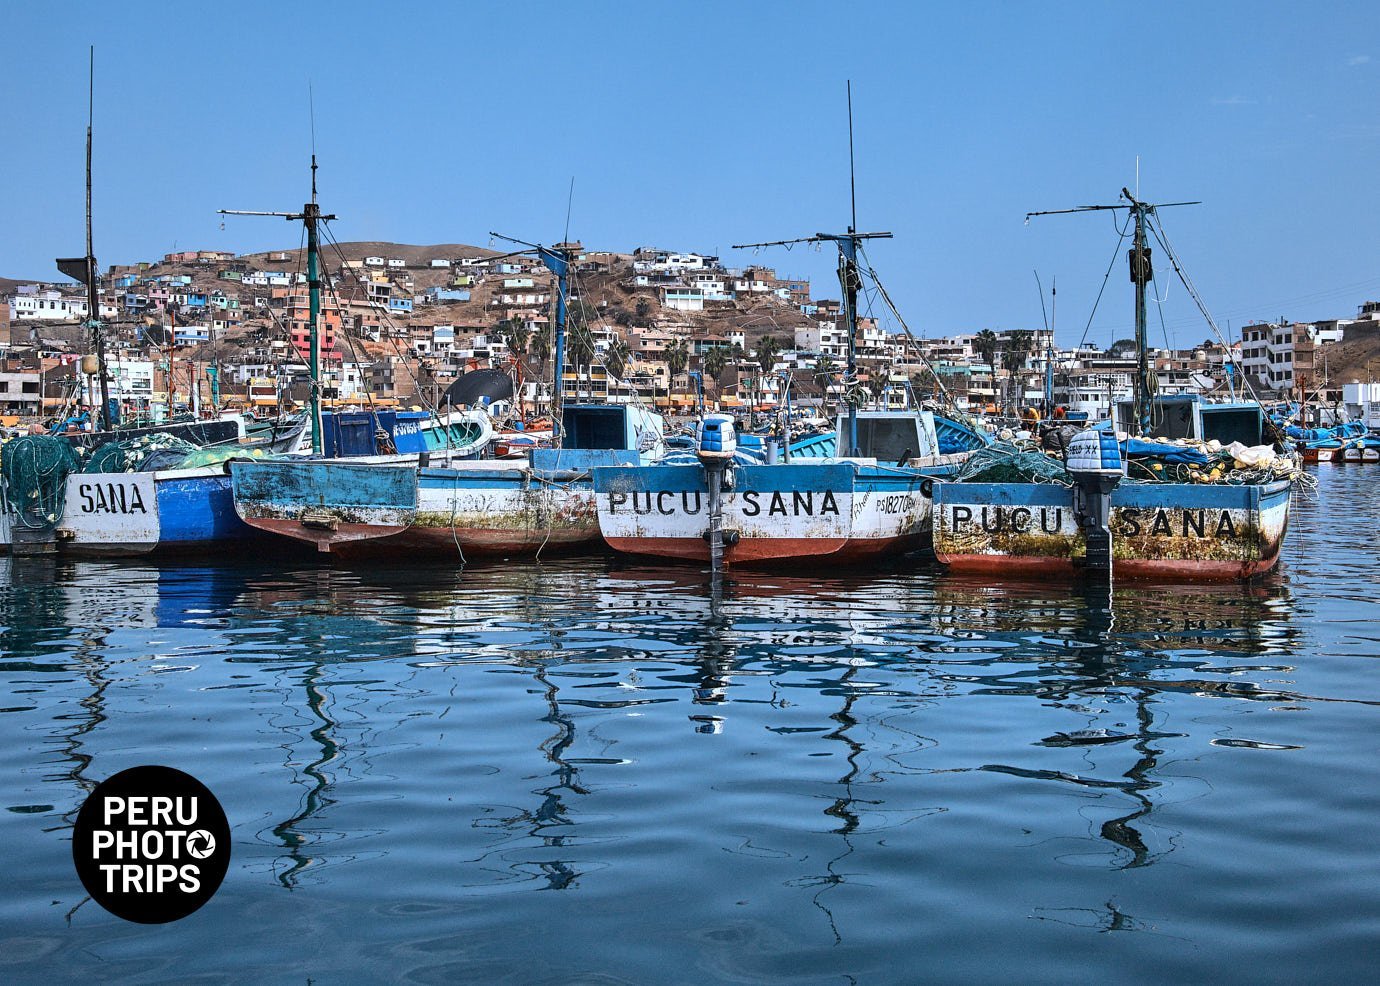
[[[1063,458],[1010,447],[976,463],[959,482],[937,486],[934,554],[951,570],[1243,580],[1279,559],[1296,460],[1268,446],[1259,402],[1152,396],[1145,226],[1155,221],[1156,206],[1126,189],[1122,196],[1127,204],[1060,211],[1127,209],[1134,217],[1130,265],[1140,355],[1134,402],[1100,429],[1072,435]],[[1163,231],[1156,236],[1206,316]],[[1012,482],[1006,474],[1013,471],[1024,478]],[[991,482],[992,476],[999,481]]]

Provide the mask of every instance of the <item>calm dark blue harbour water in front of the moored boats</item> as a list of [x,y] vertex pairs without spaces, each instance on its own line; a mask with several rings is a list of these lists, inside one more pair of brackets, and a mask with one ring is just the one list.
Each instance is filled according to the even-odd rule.
[[[607,559],[0,561],[0,980],[1370,980],[1380,507],[1126,587]],[[86,791],[235,833],[171,925],[84,902]]]

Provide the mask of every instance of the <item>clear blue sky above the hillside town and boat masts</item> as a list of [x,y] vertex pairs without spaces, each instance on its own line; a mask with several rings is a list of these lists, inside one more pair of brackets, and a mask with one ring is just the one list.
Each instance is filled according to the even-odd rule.
[[[1140,17],[1132,17],[1132,12]],[[1143,197],[1225,325],[1380,298],[1380,4],[6,4],[0,275],[81,253],[87,46],[97,46],[102,264],[264,250],[299,233],[217,209],[297,209],[315,91],[322,203],[341,240],[718,251],[836,296],[834,258],[731,243],[849,221],[920,334],[1041,325],[1083,337],[1110,217]],[[1158,255],[1158,251],[1156,251]],[[1156,264],[1151,340],[1208,334]],[[1087,337],[1129,334],[1118,260]]]

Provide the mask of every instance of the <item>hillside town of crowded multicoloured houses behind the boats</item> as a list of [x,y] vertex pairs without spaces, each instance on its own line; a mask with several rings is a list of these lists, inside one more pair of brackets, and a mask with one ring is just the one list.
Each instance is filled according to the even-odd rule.
[[[562,246],[575,258],[567,400],[827,412],[853,387],[876,406],[938,399],[1010,416],[1050,413],[1053,403],[1098,418],[1132,392],[1132,340],[1070,349],[1043,327],[919,337],[897,318],[871,316],[858,319],[850,380],[840,302],[816,298],[807,279],[729,268],[701,253]],[[457,378],[483,367],[509,371],[533,407],[549,398],[555,286],[540,262],[464,244],[388,243],[333,244],[323,260],[327,406],[436,407]],[[0,280],[0,414],[44,417],[98,402],[81,360],[91,351],[84,286]],[[301,250],[181,251],[115,265],[97,297],[121,416],[225,406],[270,414],[309,398]],[[1363,360],[1380,355],[1377,340],[1380,302],[1365,301],[1350,318],[1246,325],[1227,345],[1205,340],[1150,359],[1162,395],[1249,388],[1369,417],[1380,385]]]

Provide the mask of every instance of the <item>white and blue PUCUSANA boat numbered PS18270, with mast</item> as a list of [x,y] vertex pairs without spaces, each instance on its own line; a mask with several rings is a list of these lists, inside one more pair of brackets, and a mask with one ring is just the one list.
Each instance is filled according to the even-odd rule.
[[[851,91],[849,122],[851,162]],[[799,458],[763,463],[742,454],[731,417],[704,416],[690,461],[595,470],[599,528],[614,551],[708,562],[718,572],[727,565],[770,566],[802,558],[860,563],[926,543],[934,481],[967,452],[944,453],[931,412],[860,410],[853,385],[864,273],[890,305],[876,272],[869,264],[865,269],[860,265],[860,249],[890,236],[858,232],[854,210],[845,233],[734,246],[756,250],[832,243],[839,251],[849,385],[847,410],[839,414],[832,449],[811,441]],[[891,312],[904,326],[894,305]],[[952,424],[945,421],[945,429]],[[980,442],[976,429],[972,438]]]

